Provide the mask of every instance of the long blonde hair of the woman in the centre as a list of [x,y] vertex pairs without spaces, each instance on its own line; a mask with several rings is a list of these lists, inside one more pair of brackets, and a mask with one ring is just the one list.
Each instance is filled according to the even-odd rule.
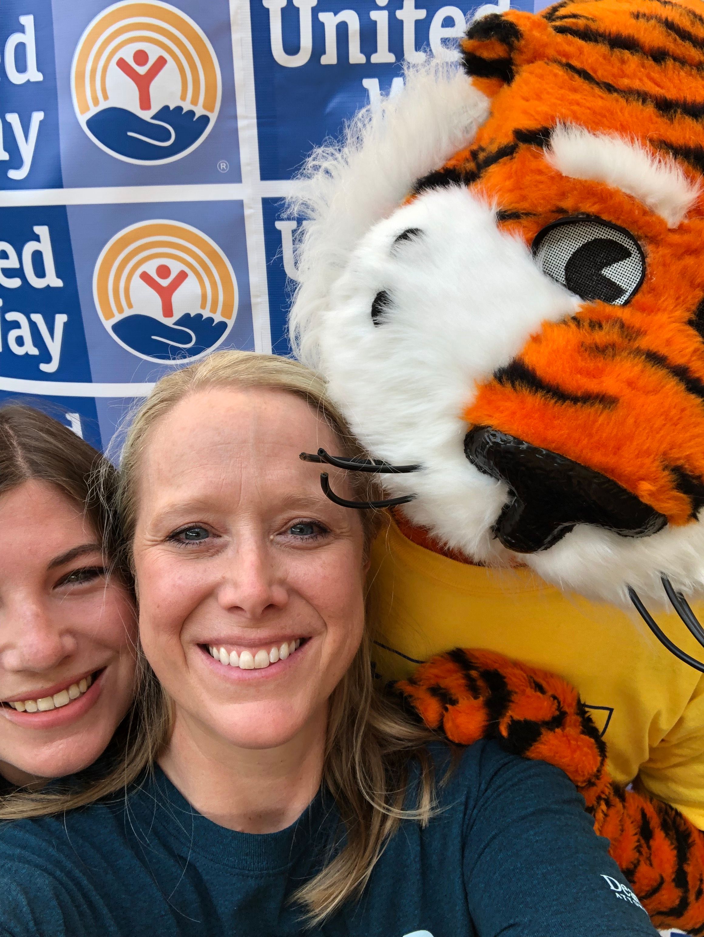
[[[365,455],[342,414],[328,398],[325,382],[318,374],[287,358],[218,351],[159,380],[130,426],[117,496],[126,562],[131,563],[129,543],[139,510],[137,488],[142,458],[154,426],[191,394],[215,388],[254,387],[304,399],[331,427],[341,454]],[[368,476],[351,481],[357,497],[367,499],[374,495],[374,483],[368,481]],[[379,527],[379,517],[364,512],[361,519],[368,549]],[[336,800],[344,837],[338,837],[331,846],[322,871],[293,896],[293,900],[307,907],[310,925],[320,923],[346,901],[360,896],[401,820],[426,825],[433,811],[435,779],[427,743],[435,736],[407,717],[396,700],[375,686],[371,645],[367,623],[352,665],[330,698],[322,783]],[[154,764],[171,735],[172,706],[143,654],[139,662],[138,697],[140,718],[127,739],[122,764],[87,784],[82,791],[63,796],[60,804],[54,800],[51,810],[35,809],[25,815],[37,816],[92,803],[123,790]],[[408,807],[404,801],[413,762],[418,768],[417,796],[414,805]],[[35,799],[39,797],[36,795]]]

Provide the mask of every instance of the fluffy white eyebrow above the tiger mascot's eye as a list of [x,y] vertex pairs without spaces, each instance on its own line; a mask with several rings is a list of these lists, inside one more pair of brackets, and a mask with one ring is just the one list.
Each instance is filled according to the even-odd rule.
[[547,160],[562,175],[621,189],[676,228],[699,196],[678,164],[656,156],[638,141],[582,126],[559,125],[550,138]]

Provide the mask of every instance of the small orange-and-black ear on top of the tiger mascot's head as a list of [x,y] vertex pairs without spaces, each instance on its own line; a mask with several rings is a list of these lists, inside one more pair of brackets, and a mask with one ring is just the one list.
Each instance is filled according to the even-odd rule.
[[474,87],[494,97],[513,82],[517,67],[536,57],[542,37],[549,41],[547,20],[532,13],[489,13],[472,22],[460,45]]

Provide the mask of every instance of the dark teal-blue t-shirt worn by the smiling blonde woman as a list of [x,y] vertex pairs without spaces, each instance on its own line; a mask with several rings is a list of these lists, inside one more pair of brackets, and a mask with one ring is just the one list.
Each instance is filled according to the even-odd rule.
[[[442,777],[447,753],[433,747]],[[318,796],[279,833],[195,812],[159,770],[110,804],[0,827],[4,937],[637,937],[656,933],[558,768],[462,753],[427,827],[405,821],[360,900],[308,930],[289,901],[337,826]]]

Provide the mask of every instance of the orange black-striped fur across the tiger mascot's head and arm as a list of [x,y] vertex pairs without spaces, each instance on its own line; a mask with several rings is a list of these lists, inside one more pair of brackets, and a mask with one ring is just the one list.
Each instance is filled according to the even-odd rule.
[[[449,184],[469,186],[514,216],[498,223],[529,246],[550,222],[582,214],[631,231],[646,257],[644,282],[627,305],[584,302],[574,318],[544,322],[518,356],[539,380],[500,372],[476,388],[464,419],[601,472],[671,525],[690,523],[697,498],[677,473],[704,490],[704,197],[670,229],[617,188],[563,176],[544,151],[556,126],[576,124],[675,159],[702,184],[704,5],[562,0],[540,16],[489,16],[462,48],[491,112],[428,186],[443,173]],[[587,403],[569,399],[585,394]],[[401,528],[444,552],[424,531]],[[667,804],[610,780],[604,743],[562,679],[456,649],[399,686],[429,726],[458,744],[495,738],[560,766],[655,925],[704,934],[704,833]]]

